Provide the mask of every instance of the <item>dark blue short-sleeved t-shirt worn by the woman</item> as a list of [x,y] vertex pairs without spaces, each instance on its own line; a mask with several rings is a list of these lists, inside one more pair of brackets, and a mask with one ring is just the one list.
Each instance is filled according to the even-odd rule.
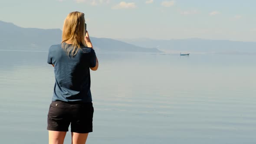
[[[65,47],[72,46],[63,43]],[[95,67],[95,51],[82,47],[75,56],[68,56],[62,45],[49,48],[47,63],[54,65],[55,85],[53,101],[92,102],[89,67]]]

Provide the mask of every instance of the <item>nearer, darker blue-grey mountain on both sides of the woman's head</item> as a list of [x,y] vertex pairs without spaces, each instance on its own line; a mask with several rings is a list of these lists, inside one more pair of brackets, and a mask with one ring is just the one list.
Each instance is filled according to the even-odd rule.
[[[60,29],[22,28],[0,21],[0,49],[42,50],[61,42]],[[144,48],[115,39],[91,37],[97,51],[102,52],[161,52],[156,48]]]

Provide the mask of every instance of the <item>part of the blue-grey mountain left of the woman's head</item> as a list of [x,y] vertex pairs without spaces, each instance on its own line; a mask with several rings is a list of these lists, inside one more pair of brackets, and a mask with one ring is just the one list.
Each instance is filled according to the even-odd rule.
[[21,28],[0,21],[0,49],[48,50],[61,41],[60,29]]

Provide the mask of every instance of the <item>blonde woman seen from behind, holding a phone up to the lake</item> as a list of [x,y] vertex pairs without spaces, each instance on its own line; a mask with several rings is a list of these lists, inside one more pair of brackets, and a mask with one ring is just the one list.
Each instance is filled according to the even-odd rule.
[[85,144],[94,111],[90,69],[98,69],[98,59],[85,32],[84,13],[69,13],[62,43],[49,48],[47,62],[53,65],[56,80],[47,120],[49,144],[63,144],[70,124],[72,144]]

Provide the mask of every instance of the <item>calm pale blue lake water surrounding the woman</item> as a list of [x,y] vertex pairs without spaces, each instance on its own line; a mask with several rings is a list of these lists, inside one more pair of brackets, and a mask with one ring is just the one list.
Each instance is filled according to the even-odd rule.
[[[0,143],[47,144],[47,52],[0,51]],[[256,59],[98,53],[88,144],[256,144]],[[70,144],[67,133],[65,144]]]

